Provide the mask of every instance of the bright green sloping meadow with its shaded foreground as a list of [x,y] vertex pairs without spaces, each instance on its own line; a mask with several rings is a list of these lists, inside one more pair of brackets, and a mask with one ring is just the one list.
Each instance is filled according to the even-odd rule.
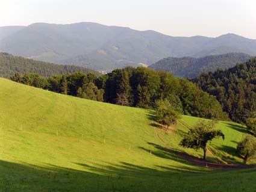
[[[155,130],[154,113],[64,96],[0,78],[0,191],[254,191],[255,169],[211,170],[177,155],[187,126]],[[208,159],[242,163],[246,129],[219,122]],[[157,137],[157,134],[160,138]],[[166,148],[166,143],[169,149]]]

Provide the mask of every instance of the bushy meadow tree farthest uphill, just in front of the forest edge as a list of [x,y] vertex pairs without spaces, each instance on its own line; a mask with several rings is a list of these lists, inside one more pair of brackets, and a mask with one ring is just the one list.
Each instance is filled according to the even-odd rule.
[[167,99],[159,100],[156,102],[155,117],[157,122],[165,125],[165,132],[167,132],[170,125],[176,124],[177,119],[180,119],[180,114],[172,110],[172,105]]

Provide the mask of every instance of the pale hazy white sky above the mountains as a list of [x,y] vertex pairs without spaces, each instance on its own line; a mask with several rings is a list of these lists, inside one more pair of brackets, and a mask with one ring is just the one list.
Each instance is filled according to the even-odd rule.
[[256,39],[256,0],[0,0],[0,26],[97,22],[170,36]]

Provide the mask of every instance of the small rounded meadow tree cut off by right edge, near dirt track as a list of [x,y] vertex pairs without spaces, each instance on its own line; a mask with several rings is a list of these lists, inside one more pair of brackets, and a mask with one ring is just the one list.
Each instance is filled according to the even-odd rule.
[[256,157],[256,138],[248,135],[237,145],[240,155],[243,155],[243,163],[247,163],[251,158]]

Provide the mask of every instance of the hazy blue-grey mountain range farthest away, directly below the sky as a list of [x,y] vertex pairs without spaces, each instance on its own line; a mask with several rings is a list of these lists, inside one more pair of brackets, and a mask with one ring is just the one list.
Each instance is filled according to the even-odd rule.
[[82,22],[1,27],[0,51],[40,61],[96,70],[150,65],[164,57],[205,57],[242,52],[256,55],[256,40],[236,34],[171,37],[156,31]]

